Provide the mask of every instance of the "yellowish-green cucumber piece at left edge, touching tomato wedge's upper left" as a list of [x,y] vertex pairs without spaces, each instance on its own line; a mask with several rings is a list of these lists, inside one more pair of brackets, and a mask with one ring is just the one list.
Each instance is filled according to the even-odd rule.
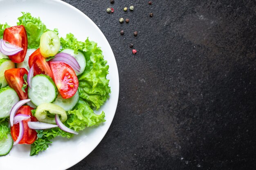
[[15,64],[11,62],[11,60],[6,58],[0,59],[0,84],[2,83],[2,86],[0,88],[8,85],[4,77],[4,71],[10,68],[15,68]]

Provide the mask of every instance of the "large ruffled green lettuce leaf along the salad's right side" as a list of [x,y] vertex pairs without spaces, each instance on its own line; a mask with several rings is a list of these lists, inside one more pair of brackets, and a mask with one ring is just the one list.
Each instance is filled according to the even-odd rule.
[[79,96],[85,99],[92,107],[99,109],[109,98],[110,87],[107,61],[104,60],[101,49],[97,43],[88,38],[80,42],[74,35],[69,33],[66,38],[61,38],[63,49],[73,49],[83,52],[86,59],[86,68],[83,74],[79,75]]

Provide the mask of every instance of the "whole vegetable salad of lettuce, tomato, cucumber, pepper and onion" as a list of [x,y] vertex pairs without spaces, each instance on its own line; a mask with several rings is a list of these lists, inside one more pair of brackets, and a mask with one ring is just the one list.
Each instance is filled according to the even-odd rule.
[[106,121],[94,110],[109,98],[108,68],[96,42],[59,37],[30,13],[0,24],[0,156],[16,144],[37,155]]

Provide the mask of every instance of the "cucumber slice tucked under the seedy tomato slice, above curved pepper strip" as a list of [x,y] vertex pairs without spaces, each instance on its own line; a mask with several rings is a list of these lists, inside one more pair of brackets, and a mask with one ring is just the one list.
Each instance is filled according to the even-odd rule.
[[70,97],[69,99],[63,99],[59,94],[57,99],[53,102],[53,104],[61,106],[62,108],[64,108],[65,111],[68,111],[68,110],[72,110],[72,108],[76,106],[78,101],[79,101],[79,92],[76,91],[76,94]]

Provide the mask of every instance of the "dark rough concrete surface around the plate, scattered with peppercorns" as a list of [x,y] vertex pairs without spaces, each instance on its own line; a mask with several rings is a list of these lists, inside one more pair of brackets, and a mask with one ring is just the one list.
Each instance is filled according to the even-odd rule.
[[120,78],[110,129],[69,170],[256,169],[255,0],[65,2],[99,26]]

